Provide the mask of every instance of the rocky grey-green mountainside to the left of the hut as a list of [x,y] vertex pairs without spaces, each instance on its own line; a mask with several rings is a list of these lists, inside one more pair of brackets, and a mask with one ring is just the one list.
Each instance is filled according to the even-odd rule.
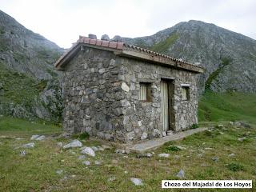
[[58,120],[62,101],[53,64],[62,52],[0,10],[0,114]]

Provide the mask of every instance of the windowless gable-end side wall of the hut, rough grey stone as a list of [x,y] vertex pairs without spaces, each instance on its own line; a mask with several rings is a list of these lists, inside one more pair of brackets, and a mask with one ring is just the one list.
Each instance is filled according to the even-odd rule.
[[124,140],[120,100],[125,93],[113,53],[92,48],[79,51],[65,67],[62,87],[65,131]]

